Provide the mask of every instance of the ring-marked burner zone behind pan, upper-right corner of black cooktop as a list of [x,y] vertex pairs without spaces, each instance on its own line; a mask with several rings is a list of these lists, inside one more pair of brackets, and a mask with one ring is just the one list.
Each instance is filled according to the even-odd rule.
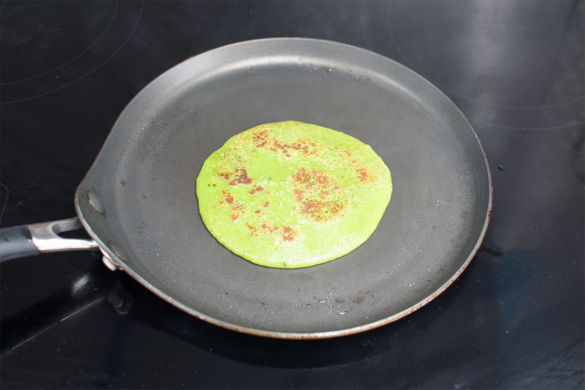
[[[427,5],[387,3],[388,37],[398,60],[441,88],[474,125],[549,130],[584,122],[583,2]],[[460,7],[473,18],[461,19]]]

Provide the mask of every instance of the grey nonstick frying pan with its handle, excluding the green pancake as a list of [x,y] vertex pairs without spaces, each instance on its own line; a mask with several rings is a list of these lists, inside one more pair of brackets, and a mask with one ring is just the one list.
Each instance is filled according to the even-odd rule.
[[[233,134],[282,120],[357,137],[393,175],[376,231],[329,263],[252,264],[199,216],[195,179],[209,154]],[[200,319],[325,338],[400,319],[444,291],[486,232],[491,175],[463,114],[408,68],[346,44],[262,39],[191,57],[147,85],[113,125],[75,208],[74,219],[4,229],[4,257],[99,249],[108,267]],[[56,234],[79,226],[91,240]]]

